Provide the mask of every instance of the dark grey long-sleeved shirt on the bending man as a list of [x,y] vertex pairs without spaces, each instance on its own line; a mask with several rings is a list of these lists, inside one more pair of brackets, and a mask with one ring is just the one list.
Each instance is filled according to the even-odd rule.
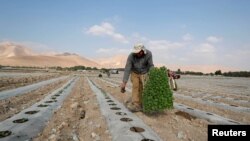
[[146,52],[142,57],[137,57],[134,53],[129,54],[123,75],[123,82],[127,83],[131,71],[137,74],[145,74],[151,67],[154,67],[151,51],[146,50]]

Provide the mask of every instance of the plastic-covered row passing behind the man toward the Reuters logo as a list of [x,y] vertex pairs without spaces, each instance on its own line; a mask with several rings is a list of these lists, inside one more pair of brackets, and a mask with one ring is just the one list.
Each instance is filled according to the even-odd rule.
[[[109,82],[109,81],[106,81],[106,80],[103,80],[103,79],[100,79],[100,80],[105,82],[105,83],[108,83],[110,85],[113,85],[115,87],[119,86],[117,84],[114,84],[112,82]],[[132,90],[129,89],[129,88],[127,88],[127,91],[130,92],[130,93],[132,92]],[[176,102],[174,103],[174,108],[178,109],[180,111],[184,111],[186,113],[189,113],[190,115],[193,115],[195,117],[205,119],[205,120],[210,121],[210,122],[215,123],[215,124],[242,124],[242,123],[240,123],[238,121],[221,117],[221,116],[219,116],[219,115],[217,115],[215,113],[210,113],[210,112],[194,109],[194,108],[191,108],[191,107],[186,106],[184,104],[179,104],[179,103],[176,103]]]

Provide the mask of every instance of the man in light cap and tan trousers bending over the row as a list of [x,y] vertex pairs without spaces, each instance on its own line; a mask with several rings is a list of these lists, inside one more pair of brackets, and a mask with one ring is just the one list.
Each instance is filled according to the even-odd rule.
[[132,112],[142,110],[142,90],[147,73],[151,67],[154,67],[151,51],[147,50],[142,43],[135,44],[133,52],[128,56],[123,82],[120,85],[121,92],[125,92],[125,87],[131,74],[130,79],[133,85],[132,97],[126,104],[127,108]]

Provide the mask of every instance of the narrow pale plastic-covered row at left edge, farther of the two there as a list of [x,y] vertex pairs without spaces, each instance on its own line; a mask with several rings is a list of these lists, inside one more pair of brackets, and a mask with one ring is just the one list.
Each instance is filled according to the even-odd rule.
[[53,78],[53,79],[50,79],[50,80],[45,80],[45,81],[38,82],[38,83],[35,83],[35,84],[27,85],[27,86],[24,86],[24,87],[2,91],[2,92],[0,92],[0,100],[7,99],[9,97],[13,97],[13,96],[17,96],[17,95],[25,94],[25,93],[31,92],[33,90],[36,90],[36,89],[38,89],[38,88],[40,88],[42,86],[45,86],[45,85],[48,85],[48,84],[51,84],[53,82],[63,80],[63,79],[66,79],[66,78],[68,78],[68,76]]

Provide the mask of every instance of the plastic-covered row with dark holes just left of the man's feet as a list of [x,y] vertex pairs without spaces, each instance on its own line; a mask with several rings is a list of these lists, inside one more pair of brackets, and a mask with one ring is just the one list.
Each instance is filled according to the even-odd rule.
[[162,141],[162,139],[135,114],[96,83],[88,79],[97,96],[99,107],[106,118],[114,141]]

